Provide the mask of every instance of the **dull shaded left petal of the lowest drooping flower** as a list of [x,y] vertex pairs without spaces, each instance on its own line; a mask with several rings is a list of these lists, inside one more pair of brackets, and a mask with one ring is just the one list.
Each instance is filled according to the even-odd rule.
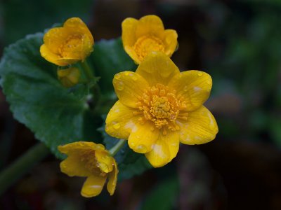
[[89,169],[81,162],[79,151],[77,153],[72,152],[72,155],[60,162],[60,171],[68,176],[89,176],[91,174]]

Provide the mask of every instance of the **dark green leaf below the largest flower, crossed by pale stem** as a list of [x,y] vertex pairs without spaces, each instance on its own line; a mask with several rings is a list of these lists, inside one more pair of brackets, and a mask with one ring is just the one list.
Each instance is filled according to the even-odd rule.
[[[105,144],[105,147],[109,150],[117,144],[119,139],[110,137],[105,132],[104,127],[105,126],[100,127],[99,131],[103,135],[103,143]],[[115,160],[117,161],[119,169],[119,181],[143,174],[143,172],[152,168],[148,160],[145,158],[145,155],[133,152],[127,143],[115,155]]]

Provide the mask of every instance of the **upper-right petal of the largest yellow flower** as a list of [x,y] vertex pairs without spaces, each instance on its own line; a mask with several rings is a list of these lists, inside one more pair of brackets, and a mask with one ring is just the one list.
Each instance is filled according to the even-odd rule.
[[211,76],[203,71],[184,71],[174,76],[169,87],[181,94],[186,102],[186,111],[198,109],[209,97],[211,91]]

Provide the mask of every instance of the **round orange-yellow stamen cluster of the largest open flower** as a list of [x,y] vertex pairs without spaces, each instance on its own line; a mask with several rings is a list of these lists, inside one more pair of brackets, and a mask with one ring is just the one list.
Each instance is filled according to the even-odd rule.
[[[186,120],[187,117],[187,113],[181,112],[186,108],[183,97],[176,96],[175,90],[170,90],[169,87],[159,83],[144,90],[143,97],[139,98],[137,105],[143,113],[143,117],[139,118],[140,122],[145,123],[146,120],[150,120],[155,123],[157,129],[163,128],[164,134],[166,129],[179,130],[176,119]],[[134,114],[139,113],[134,112]]]

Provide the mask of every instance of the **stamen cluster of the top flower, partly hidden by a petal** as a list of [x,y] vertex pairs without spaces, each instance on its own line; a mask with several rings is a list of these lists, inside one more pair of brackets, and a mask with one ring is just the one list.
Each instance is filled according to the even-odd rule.
[[156,36],[141,36],[133,45],[133,49],[138,55],[138,58],[143,61],[144,57],[152,51],[164,52],[164,45],[161,39]]

